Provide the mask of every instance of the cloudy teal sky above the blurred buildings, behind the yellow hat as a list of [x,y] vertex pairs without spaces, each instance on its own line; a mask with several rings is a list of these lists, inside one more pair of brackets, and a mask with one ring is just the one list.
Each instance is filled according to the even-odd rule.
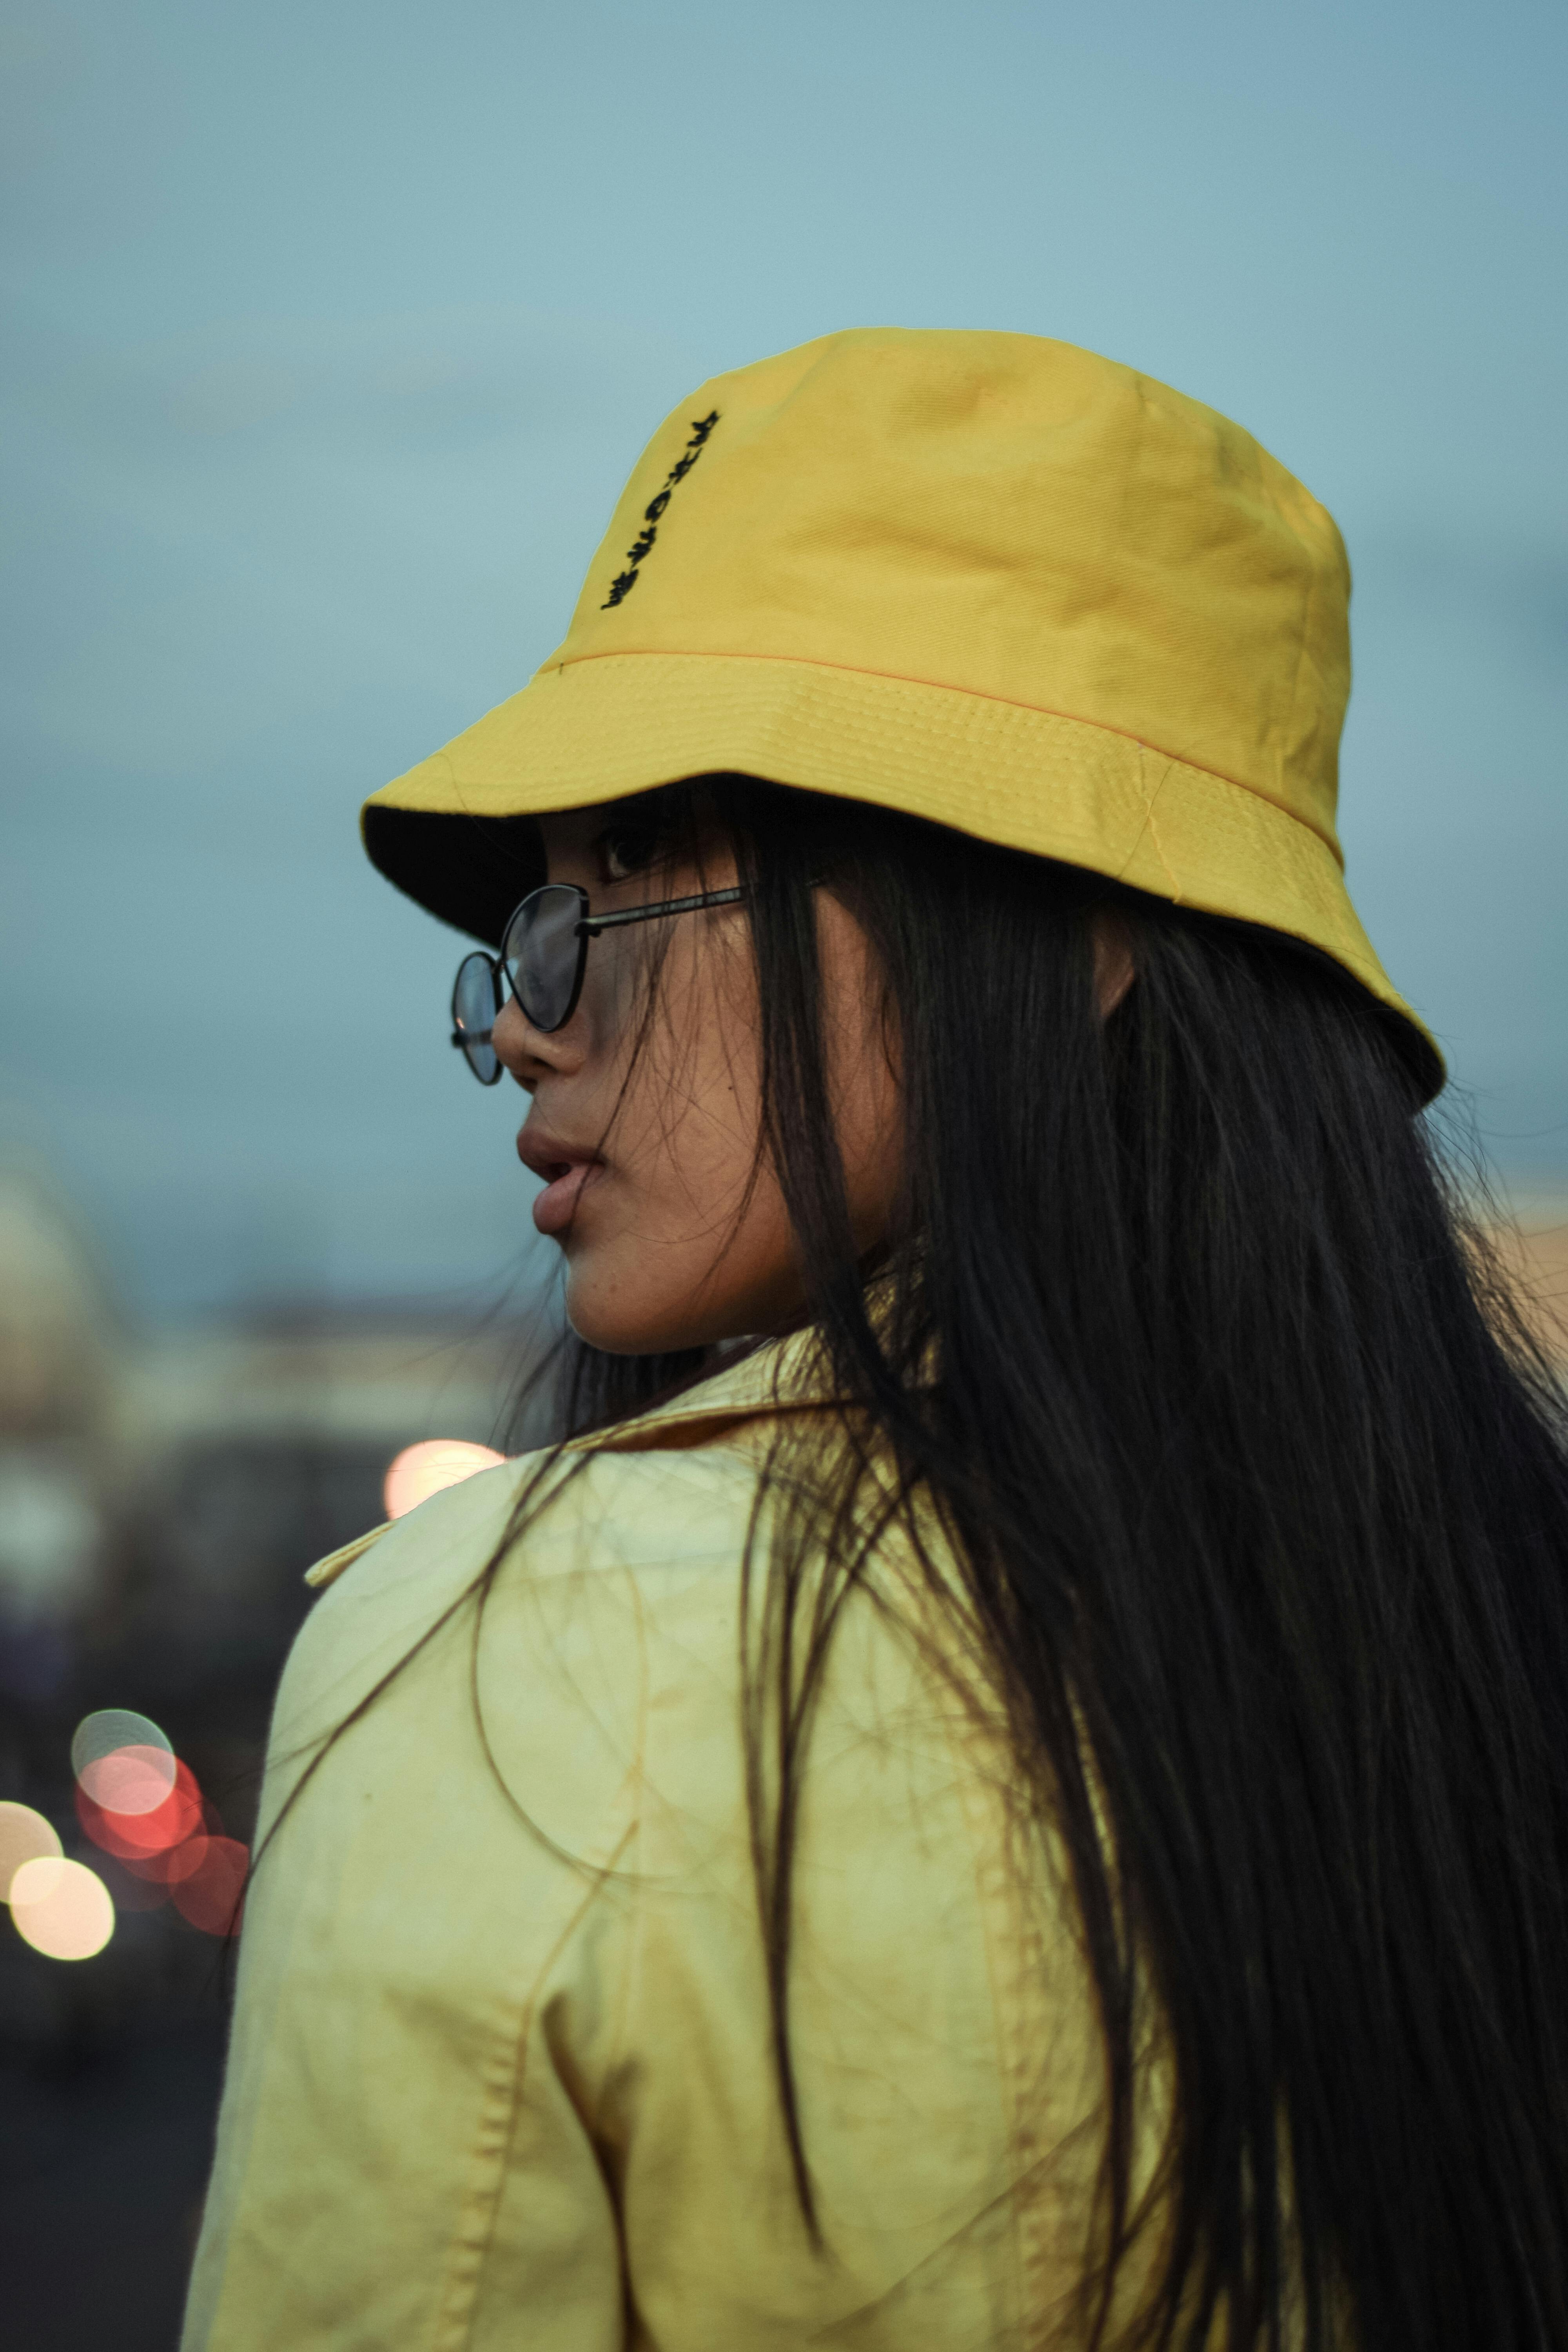
[[0,1108],[132,1305],[527,1263],[357,802],[675,400],[844,325],[1112,353],[1333,508],[1352,894],[1568,1185],[1561,7],[85,0],[0,64]]

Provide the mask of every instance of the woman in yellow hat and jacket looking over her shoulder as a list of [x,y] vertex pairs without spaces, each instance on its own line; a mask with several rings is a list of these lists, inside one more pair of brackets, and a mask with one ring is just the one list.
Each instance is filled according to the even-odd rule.
[[1345,609],[1208,409],[839,334],[369,802],[578,1357],[313,1571],[190,2347],[1568,2343],[1568,1472]]

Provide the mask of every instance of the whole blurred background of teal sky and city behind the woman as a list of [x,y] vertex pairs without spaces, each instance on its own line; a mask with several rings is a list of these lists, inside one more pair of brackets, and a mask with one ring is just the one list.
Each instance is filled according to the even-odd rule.
[[[113,1898],[92,1957],[0,1919],[0,2260],[16,2343],[167,2352],[301,1571],[550,1327],[355,809],[552,649],[703,376],[1065,336],[1333,508],[1352,891],[1568,1282],[1568,19],[35,0],[0,64],[0,1832]],[[94,1710],[179,1837],[73,1785]]]

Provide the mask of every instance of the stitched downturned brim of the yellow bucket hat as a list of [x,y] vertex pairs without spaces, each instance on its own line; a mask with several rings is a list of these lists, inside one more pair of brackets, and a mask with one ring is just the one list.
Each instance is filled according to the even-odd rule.
[[543,880],[534,818],[686,776],[750,774],[905,809],[1328,955],[1396,1018],[1429,1101],[1441,1051],[1396,993],[1340,858],[1267,795],[1056,710],[743,654],[607,654],[543,670],[364,804],[376,868],[498,946]]

